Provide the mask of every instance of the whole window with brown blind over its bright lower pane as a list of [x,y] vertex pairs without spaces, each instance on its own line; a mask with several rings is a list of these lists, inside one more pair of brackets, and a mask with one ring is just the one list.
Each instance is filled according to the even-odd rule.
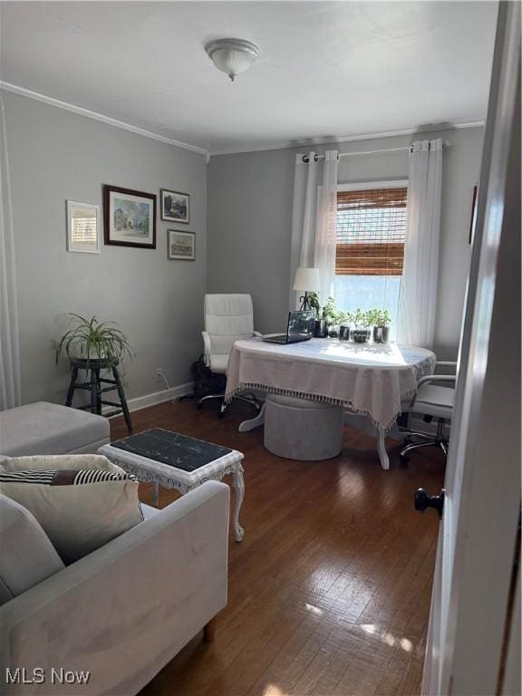
[[395,188],[339,190],[335,254],[336,305],[345,312],[378,307],[391,314],[395,337],[399,310],[404,236],[405,182]]

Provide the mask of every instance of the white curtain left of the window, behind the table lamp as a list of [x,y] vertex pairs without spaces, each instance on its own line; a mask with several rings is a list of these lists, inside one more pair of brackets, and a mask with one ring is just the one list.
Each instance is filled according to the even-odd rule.
[[[326,150],[319,159],[315,152],[295,156],[294,206],[290,286],[297,266],[319,268],[324,304],[333,295],[335,283],[335,223],[337,214],[337,150]],[[321,169],[323,177],[319,185]],[[290,306],[298,306],[298,293],[290,291]]]

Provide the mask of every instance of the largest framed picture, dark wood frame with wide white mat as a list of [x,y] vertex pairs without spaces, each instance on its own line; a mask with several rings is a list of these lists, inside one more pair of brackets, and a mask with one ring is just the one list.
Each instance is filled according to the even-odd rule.
[[103,186],[105,244],[156,248],[156,196]]

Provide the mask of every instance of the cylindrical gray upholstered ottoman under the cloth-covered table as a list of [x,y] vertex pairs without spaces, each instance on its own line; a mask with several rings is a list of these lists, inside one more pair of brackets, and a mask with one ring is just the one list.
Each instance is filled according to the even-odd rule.
[[343,407],[266,395],[265,447],[278,457],[319,461],[343,448]]

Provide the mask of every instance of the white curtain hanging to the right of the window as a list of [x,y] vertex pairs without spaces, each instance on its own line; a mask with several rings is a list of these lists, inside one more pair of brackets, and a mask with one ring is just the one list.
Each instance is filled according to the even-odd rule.
[[397,341],[433,347],[439,274],[442,140],[411,145]]

